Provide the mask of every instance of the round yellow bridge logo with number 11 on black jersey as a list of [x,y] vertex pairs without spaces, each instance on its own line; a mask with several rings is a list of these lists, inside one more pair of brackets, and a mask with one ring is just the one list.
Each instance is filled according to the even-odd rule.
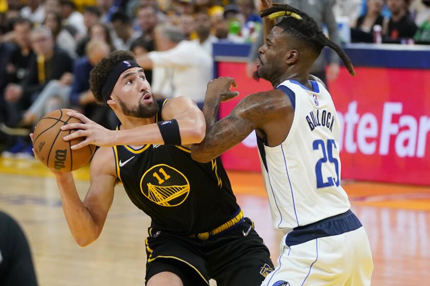
[[146,198],[158,205],[177,206],[187,199],[189,182],[175,168],[158,164],[143,174],[140,190]]

